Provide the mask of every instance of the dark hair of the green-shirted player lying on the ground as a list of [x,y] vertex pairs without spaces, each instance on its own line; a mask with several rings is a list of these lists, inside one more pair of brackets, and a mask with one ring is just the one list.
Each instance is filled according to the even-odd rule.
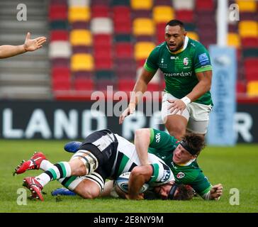
[[186,133],[180,143],[191,155],[199,155],[206,143],[202,135]]

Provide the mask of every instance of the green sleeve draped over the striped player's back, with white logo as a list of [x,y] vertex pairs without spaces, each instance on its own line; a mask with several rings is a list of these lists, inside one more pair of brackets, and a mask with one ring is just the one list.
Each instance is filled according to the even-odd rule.
[[157,150],[169,151],[174,150],[179,141],[174,136],[169,135],[164,131],[159,131],[155,128],[150,128],[150,148]]

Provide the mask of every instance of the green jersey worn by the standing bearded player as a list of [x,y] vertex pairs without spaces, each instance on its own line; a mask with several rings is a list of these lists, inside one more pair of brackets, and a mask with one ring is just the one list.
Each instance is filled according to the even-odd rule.
[[[198,83],[197,72],[212,70],[208,50],[187,36],[184,47],[177,52],[171,52],[166,42],[157,45],[147,57],[144,67],[149,72],[160,69],[166,82],[165,91],[178,99],[194,89]],[[195,102],[212,105],[211,92],[206,92]]]

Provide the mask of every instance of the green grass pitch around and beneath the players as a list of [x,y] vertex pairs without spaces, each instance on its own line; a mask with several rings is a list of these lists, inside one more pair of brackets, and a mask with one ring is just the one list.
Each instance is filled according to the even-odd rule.
[[[69,160],[70,154],[62,147],[66,141],[52,140],[1,140],[0,141],[0,212],[258,212],[258,145],[237,145],[235,148],[203,150],[198,163],[209,180],[222,183],[224,194],[220,201],[128,201],[123,199],[82,199],[79,196],[60,196],[57,201],[50,192],[60,187],[50,182],[43,190],[45,201],[27,200],[26,206],[18,205],[17,190],[23,177],[38,175],[40,170],[30,170],[12,176],[13,169],[35,150],[42,150],[52,162]],[[240,205],[230,205],[230,189],[240,192]],[[28,191],[27,191],[28,192]]]

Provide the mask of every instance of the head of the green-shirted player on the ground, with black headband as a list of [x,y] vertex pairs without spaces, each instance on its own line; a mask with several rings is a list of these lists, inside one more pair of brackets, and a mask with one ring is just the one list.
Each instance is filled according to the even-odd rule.
[[173,152],[173,162],[184,164],[194,160],[201,150],[205,147],[205,141],[202,135],[188,133],[184,135],[179,145]]

